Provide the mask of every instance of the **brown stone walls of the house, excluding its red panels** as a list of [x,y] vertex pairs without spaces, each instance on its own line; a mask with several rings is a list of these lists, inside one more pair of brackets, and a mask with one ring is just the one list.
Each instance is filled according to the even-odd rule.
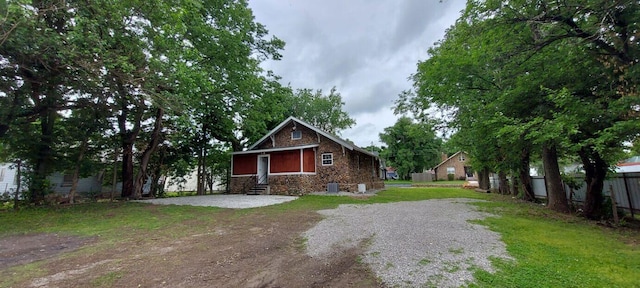
[[[367,190],[384,188],[384,182],[379,177],[379,161],[374,157],[357,150],[343,148],[340,144],[301,124],[296,125],[295,129],[302,132],[302,138],[293,140],[291,139],[293,127],[293,123],[289,123],[276,132],[273,137],[275,145],[271,138],[267,138],[256,149],[319,144],[319,147],[315,148],[316,173],[269,175],[271,194],[304,195],[326,191],[328,183],[338,183],[338,189],[347,192],[358,192],[360,183],[364,183]],[[333,154],[333,165],[322,166],[322,154],[325,153]],[[252,181],[255,181],[255,178],[232,177],[231,193],[246,193],[253,185]]]

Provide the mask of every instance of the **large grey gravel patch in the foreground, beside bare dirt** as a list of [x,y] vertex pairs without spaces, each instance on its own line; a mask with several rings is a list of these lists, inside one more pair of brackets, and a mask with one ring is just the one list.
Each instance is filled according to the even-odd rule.
[[469,223],[490,214],[470,199],[443,199],[322,210],[326,218],[304,233],[307,253],[328,257],[363,245],[362,260],[391,287],[459,287],[473,269],[493,272],[490,257],[511,259],[500,235]]

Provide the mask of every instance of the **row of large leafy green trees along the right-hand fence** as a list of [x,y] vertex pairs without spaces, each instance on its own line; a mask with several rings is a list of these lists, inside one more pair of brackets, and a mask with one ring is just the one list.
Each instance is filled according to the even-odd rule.
[[[511,175],[517,183],[501,192],[534,200],[529,167],[540,159],[555,211],[569,212],[558,159],[578,159],[583,215],[601,219],[603,181],[640,129],[639,8],[629,0],[469,1],[418,63],[396,113],[454,131],[449,141],[470,154],[483,189],[489,172],[501,183]],[[445,116],[434,119],[434,110]]]

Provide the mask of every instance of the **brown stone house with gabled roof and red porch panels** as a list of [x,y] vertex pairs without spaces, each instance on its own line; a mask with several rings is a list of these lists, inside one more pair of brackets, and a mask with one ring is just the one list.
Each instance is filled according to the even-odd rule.
[[231,193],[303,195],[384,188],[379,157],[289,117],[231,159]]

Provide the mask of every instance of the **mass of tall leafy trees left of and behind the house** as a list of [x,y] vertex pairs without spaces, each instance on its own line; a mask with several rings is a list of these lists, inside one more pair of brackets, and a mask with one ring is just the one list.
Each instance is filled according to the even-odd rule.
[[284,45],[244,0],[2,1],[0,161],[24,171],[31,204],[52,172],[73,175],[71,202],[97,174],[123,198],[194,170],[196,192],[211,191],[229,152],[288,116],[332,133],[355,123],[335,88],[294,90],[260,68]]

